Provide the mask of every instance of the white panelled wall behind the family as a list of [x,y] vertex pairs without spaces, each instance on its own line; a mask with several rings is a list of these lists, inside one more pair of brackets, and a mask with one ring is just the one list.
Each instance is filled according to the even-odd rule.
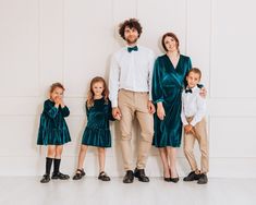
[[[0,176],[34,176],[45,170],[45,148],[36,146],[47,89],[60,81],[71,109],[72,143],[62,170],[73,173],[86,124],[89,80],[108,77],[111,53],[123,46],[118,24],[139,19],[139,44],[161,53],[160,38],[174,32],[182,53],[203,70],[208,89],[211,177],[256,177],[256,19],[253,0],[0,0]],[[118,123],[107,171],[123,174]],[[134,130],[137,135],[137,129]],[[136,137],[134,140],[136,143]],[[153,147],[147,173],[161,176]],[[85,168],[97,174],[90,148]],[[179,150],[179,173],[188,165]]]

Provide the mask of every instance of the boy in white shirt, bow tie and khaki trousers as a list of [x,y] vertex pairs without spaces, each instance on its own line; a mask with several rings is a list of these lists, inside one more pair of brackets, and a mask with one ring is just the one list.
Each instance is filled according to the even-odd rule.
[[[200,70],[193,68],[186,76],[187,86],[182,93],[181,119],[184,125],[184,154],[190,162],[192,171],[183,181],[198,180],[198,184],[208,182],[207,172],[209,167],[208,142],[206,132],[206,99],[199,95]],[[195,140],[198,141],[200,149],[202,170],[197,168],[193,153]]]

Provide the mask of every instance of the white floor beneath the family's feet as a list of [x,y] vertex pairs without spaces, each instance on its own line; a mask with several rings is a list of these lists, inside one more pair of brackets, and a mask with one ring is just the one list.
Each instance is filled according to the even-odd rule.
[[101,182],[96,178],[81,181],[39,183],[38,177],[0,177],[0,205],[255,205],[256,179],[209,179],[209,183],[174,184],[160,178],[149,183],[122,178]]

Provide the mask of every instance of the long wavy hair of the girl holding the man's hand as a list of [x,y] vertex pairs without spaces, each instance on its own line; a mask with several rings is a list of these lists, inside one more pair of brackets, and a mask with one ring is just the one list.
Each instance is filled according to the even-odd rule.
[[88,91],[88,95],[87,95],[87,100],[86,100],[86,105],[87,108],[92,108],[94,106],[94,91],[93,91],[93,86],[95,83],[101,82],[103,84],[103,92],[102,92],[102,96],[105,98],[105,102],[108,104],[108,98],[109,98],[109,89],[108,86],[103,80],[103,77],[101,76],[96,76],[90,81],[90,85],[89,85],[89,91]]

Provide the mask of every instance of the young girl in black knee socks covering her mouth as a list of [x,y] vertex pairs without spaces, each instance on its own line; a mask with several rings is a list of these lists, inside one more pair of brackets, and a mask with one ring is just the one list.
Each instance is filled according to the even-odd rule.
[[48,145],[46,157],[46,173],[40,180],[41,183],[50,181],[50,170],[52,160],[54,162],[51,179],[68,180],[70,177],[60,172],[61,154],[63,144],[71,141],[70,132],[64,118],[70,116],[69,108],[63,102],[64,87],[60,83],[54,83],[50,87],[50,98],[44,104],[40,116],[40,125],[37,144]]

